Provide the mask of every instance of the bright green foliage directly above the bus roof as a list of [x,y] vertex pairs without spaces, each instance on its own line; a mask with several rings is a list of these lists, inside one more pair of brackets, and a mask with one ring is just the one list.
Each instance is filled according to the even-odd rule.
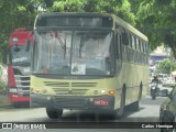
[[55,0],[46,11],[114,13],[135,25],[129,0]]

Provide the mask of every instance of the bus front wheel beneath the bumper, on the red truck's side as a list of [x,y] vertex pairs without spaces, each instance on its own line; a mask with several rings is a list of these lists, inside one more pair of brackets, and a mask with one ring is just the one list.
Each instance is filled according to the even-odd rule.
[[63,109],[46,108],[46,113],[50,119],[59,119],[62,118]]

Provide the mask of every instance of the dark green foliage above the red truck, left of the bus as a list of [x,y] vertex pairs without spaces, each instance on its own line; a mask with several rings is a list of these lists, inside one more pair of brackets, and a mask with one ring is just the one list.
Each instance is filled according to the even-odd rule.
[[0,55],[8,45],[9,34],[18,28],[32,29],[35,15],[36,3],[32,0],[0,0]]

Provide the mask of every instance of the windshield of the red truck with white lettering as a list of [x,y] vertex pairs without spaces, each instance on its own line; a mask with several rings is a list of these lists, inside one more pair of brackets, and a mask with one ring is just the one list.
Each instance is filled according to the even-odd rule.
[[10,47],[11,64],[13,66],[26,67],[31,65],[31,53],[26,52],[26,45],[18,45],[18,51],[15,45]]

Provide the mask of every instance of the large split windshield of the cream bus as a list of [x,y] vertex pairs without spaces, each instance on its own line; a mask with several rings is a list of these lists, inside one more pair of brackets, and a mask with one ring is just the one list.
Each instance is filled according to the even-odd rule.
[[35,31],[34,73],[111,75],[114,48],[111,31]]

